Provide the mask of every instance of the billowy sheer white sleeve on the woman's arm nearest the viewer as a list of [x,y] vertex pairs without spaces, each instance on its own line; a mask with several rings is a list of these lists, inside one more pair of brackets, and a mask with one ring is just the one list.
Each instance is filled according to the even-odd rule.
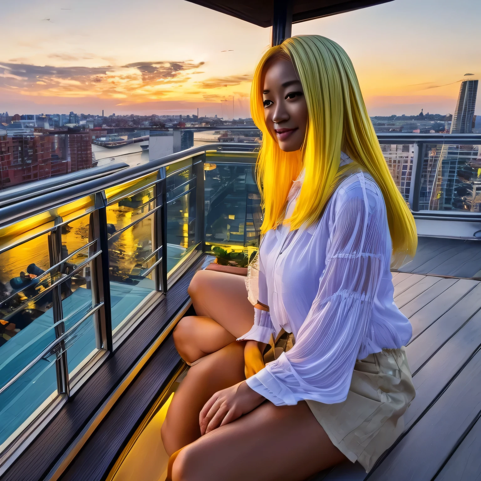
[[333,199],[326,266],[294,346],[247,380],[275,405],[344,401],[356,358],[367,355],[369,317],[391,243],[380,191],[370,190],[368,199],[364,180]]

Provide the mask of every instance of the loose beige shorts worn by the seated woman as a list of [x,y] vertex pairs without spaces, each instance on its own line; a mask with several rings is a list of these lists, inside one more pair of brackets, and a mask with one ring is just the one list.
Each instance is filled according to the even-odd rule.
[[402,347],[356,361],[344,402],[306,402],[332,443],[369,472],[403,432],[403,414],[415,395]]

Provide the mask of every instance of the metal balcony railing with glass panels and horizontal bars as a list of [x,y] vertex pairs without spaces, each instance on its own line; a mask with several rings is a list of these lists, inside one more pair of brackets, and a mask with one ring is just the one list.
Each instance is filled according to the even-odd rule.
[[[417,218],[481,220],[481,136],[379,140]],[[257,149],[204,145],[0,199],[0,474],[201,253],[245,265]]]

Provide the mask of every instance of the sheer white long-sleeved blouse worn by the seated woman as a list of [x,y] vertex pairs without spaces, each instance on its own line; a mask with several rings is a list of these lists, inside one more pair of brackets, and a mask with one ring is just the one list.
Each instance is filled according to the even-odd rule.
[[340,184],[313,226],[269,230],[259,250],[259,301],[269,312],[255,309],[253,328],[239,340],[269,342],[284,328],[296,342],[247,384],[275,405],[344,401],[356,359],[412,335],[393,301],[391,253],[384,199],[362,172]]

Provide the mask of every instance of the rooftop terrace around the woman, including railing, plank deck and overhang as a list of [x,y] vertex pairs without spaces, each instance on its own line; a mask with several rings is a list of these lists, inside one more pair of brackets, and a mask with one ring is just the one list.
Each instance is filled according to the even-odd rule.
[[[254,23],[266,14],[273,44],[289,36],[291,15],[296,21],[379,2],[319,3],[202,2]],[[378,139],[418,229],[415,258],[392,272],[394,301],[413,326],[406,350],[417,396],[402,435],[368,478],[478,479],[481,135],[385,132]],[[1,151],[8,140],[0,131]],[[55,145],[27,140],[27,153],[53,153]],[[65,155],[86,147],[84,140],[64,147]],[[211,143],[2,193],[2,481],[120,481],[132,473],[145,481],[151,467],[155,481],[164,479],[159,437],[153,445],[143,435],[158,432],[187,369],[172,331],[195,314],[187,289],[197,270],[214,256],[221,265],[245,265],[258,248],[258,147]],[[14,289],[32,264],[37,281]],[[311,481],[341,479],[367,475],[348,462]]]

